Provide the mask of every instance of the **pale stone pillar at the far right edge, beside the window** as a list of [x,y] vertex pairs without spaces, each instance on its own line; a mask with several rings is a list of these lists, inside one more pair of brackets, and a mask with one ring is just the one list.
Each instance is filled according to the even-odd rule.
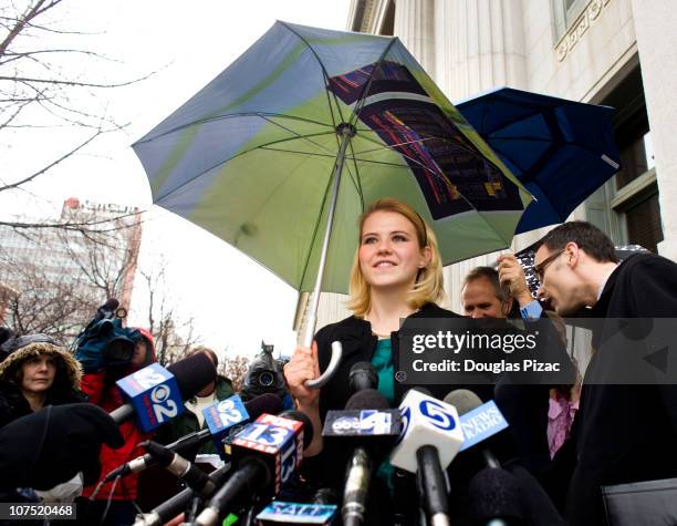
[[658,251],[677,260],[677,9],[674,0],[632,6],[665,238]]

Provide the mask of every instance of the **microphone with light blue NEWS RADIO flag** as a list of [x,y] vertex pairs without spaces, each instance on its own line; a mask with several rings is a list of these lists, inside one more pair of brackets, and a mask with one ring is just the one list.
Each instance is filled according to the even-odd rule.
[[[451,391],[445,396],[445,402],[452,404],[460,414],[465,437],[460,451],[466,451],[508,427],[508,422],[492,400],[482,403],[480,398],[468,389]],[[489,447],[482,446],[481,453],[488,467],[501,467]]]

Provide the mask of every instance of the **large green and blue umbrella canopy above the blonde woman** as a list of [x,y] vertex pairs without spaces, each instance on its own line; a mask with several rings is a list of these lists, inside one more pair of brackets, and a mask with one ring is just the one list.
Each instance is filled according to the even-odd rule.
[[378,197],[428,220],[446,264],[509,246],[531,199],[399,40],[284,22],[133,147],[156,204],[305,291],[321,268],[346,291]]

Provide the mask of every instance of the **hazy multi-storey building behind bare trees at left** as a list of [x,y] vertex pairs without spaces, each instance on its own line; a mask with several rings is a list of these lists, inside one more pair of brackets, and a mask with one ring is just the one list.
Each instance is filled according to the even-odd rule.
[[[67,209],[63,213],[69,219]],[[75,214],[93,214],[75,210]],[[15,332],[46,332],[72,340],[96,308],[115,297],[129,307],[140,243],[140,220],[95,235],[0,226],[0,312]],[[86,217],[85,217],[86,219]],[[12,237],[14,236],[14,237]],[[2,308],[3,307],[3,308]]]

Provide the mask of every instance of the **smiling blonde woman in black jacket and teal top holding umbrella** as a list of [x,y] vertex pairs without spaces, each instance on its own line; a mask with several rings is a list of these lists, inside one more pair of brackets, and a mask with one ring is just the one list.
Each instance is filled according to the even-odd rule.
[[[308,456],[322,451],[326,412],[343,409],[352,394],[348,374],[353,364],[372,362],[378,373],[378,390],[390,404],[399,402],[404,390],[395,381],[395,361],[400,319],[459,317],[436,305],[445,296],[437,239],[413,208],[394,198],[378,199],[358,224],[360,245],[350,280],[353,316],[321,329],[312,349],[298,348],[284,367],[299,410],[313,422],[315,433]],[[321,390],[306,389],[304,382],[326,368],[331,342],[336,340],[343,344],[338,370]]]

